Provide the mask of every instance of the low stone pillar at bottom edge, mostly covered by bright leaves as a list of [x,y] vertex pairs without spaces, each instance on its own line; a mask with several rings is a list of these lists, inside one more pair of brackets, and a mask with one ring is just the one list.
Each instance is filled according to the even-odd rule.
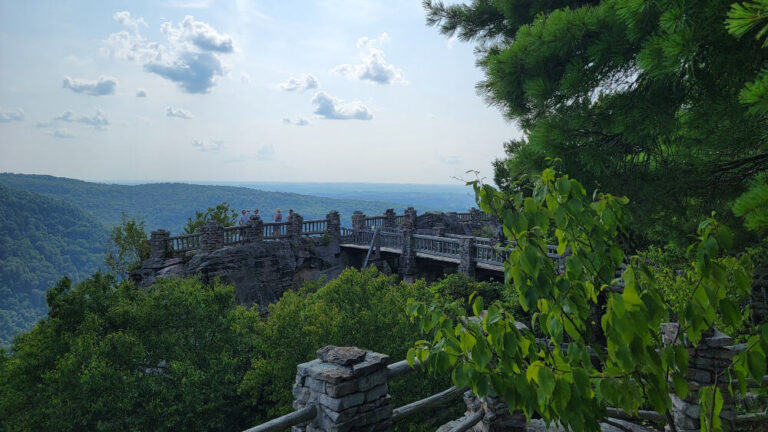
[[483,411],[483,419],[469,429],[471,432],[525,432],[527,421],[522,411],[509,412],[506,401],[496,395],[488,395],[480,399],[468,391],[464,393],[464,403],[467,404],[466,417]]

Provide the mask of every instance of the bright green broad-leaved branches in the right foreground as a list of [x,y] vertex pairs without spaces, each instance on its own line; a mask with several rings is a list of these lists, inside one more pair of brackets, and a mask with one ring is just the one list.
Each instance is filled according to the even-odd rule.
[[[659,334],[669,307],[647,265],[627,257],[617,240],[626,231],[627,199],[603,193],[590,198],[578,181],[550,169],[533,179],[527,193],[475,187],[481,208],[497,215],[515,242],[504,264],[509,289],[517,291],[520,306],[531,314],[527,324],[546,341],[518,327],[517,317],[501,301],[486,305],[482,297],[470,297],[470,315],[412,301],[410,315],[431,337],[416,342],[408,359],[450,372],[457,386],[470,385],[479,396],[501,395],[510,409],[529,418],[540,415],[574,430],[599,430],[606,406],[636,412],[648,403],[665,412],[671,406],[669,383],[685,397],[688,353],[682,345],[662,346]],[[552,227],[558,253],[570,250],[564,272],[547,256],[546,235]],[[728,293],[749,293],[752,272],[747,255],[718,259],[733,242],[727,227],[709,218],[697,233],[690,248],[695,289],[677,312],[678,339],[685,334],[694,345],[718,321],[741,323]],[[624,286],[619,287],[615,272],[622,263]],[[742,391],[747,377],[762,379],[766,349],[768,325],[748,338],[748,349],[734,360],[731,373]],[[703,388],[703,406],[716,408],[717,394],[717,389]],[[717,430],[714,423],[709,426]]]

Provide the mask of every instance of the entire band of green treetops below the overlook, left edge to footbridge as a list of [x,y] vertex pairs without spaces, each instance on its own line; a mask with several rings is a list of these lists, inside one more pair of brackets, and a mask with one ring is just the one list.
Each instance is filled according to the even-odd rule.
[[[459,276],[428,287],[348,269],[287,292],[260,317],[217,282],[137,289],[104,274],[63,279],[48,292],[48,316],[0,351],[0,430],[243,430],[292,410],[296,365],[318,348],[401,360],[419,334],[404,314],[408,298],[443,303],[473,290],[501,292]],[[398,405],[450,386],[423,374],[391,384]],[[436,414],[405,427],[434,430],[447,420]]]

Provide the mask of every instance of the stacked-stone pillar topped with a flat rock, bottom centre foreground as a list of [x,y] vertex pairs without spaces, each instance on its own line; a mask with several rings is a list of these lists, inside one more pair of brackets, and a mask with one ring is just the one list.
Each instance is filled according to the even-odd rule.
[[293,386],[293,408],[315,405],[317,415],[293,432],[391,431],[388,360],[355,347],[317,350],[317,360],[296,367]]

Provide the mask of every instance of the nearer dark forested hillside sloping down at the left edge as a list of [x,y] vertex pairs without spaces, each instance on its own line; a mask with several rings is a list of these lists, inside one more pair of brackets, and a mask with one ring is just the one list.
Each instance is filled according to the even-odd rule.
[[45,292],[103,263],[107,230],[75,206],[0,185],[0,346],[47,311]]

